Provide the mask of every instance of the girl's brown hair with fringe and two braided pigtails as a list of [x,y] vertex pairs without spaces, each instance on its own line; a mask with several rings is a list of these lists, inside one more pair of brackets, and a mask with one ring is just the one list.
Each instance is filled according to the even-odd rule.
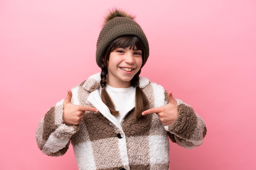
[[[117,116],[119,115],[119,112],[115,110],[115,105],[112,102],[110,96],[105,90],[106,87],[106,76],[108,74],[108,60],[109,60],[109,55],[110,52],[117,48],[130,48],[130,49],[135,49],[141,50],[142,51],[142,65],[145,64],[145,50],[144,46],[141,42],[141,40],[138,37],[135,36],[122,36],[117,39],[115,39],[110,46],[108,46],[106,52],[104,53],[103,57],[103,62],[101,64],[101,99],[105,103],[105,105],[108,106],[110,109],[110,112],[112,115]],[[142,89],[139,87],[139,74],[141,72],[141,69],[135,74],[135,76],[131,80],[131,85],[133,87],[136,87],[136,94],[135,94],[135,118],[139,119],[141,118],[141,113],[146,110],[146,107],[149,105],[148,98],[142,91]]]

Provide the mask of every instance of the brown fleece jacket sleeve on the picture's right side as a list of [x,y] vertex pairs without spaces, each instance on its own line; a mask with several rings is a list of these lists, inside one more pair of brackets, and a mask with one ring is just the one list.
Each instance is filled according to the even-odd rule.
[[182,100],[176,99],[176,101],[177,119],[165,126],[168,136],[172,142],[187,149],[200,146],[207,132],[204,121],[194,112],[191,106],[182,102]]

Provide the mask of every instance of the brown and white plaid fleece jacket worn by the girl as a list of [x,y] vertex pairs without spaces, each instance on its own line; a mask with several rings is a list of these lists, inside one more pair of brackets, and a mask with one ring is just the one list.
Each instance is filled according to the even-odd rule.
[[[117,122],[101,101],[100,80],[100,74],[94,74],[72,89],[73,104],[99,110],[85,112],[79,125],[63,124],[63,100],[47,111],[36,131],[43,153],[61,156],[71,142],[79,170],[168,170],[169,138],[185,148],[202,144],[206,135],[202,118],[178,99],[177,119],[168,126],[163,126],[156,114],[135,120],[134,109]],[[140,87],[148,97],[149,108],[168,104],[162,86],[140,77]]]

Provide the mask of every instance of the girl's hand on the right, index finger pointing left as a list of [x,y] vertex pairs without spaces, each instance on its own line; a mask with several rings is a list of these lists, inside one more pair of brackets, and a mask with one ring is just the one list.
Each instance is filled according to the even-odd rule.
[[142,115],[156,113],[163,125],[171,124],[177,118],[177,101],[173,98],[172,92],[168,92],[169,103],[165,106],[148,109]]

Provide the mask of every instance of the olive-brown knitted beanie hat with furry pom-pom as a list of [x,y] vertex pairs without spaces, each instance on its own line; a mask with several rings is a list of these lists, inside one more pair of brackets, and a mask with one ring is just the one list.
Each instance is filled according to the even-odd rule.
[[142,41],[145,48],[145,61],[143,65],[146,63],[149,56],[148,40],[139,24],[134,21],[134,18],[134,16],[118,9],[110,11],[106,16],[104,26],[97,41],[96,62],[100,68],[104,52],[108,46],[118,37],[125,35],[134,35]]

